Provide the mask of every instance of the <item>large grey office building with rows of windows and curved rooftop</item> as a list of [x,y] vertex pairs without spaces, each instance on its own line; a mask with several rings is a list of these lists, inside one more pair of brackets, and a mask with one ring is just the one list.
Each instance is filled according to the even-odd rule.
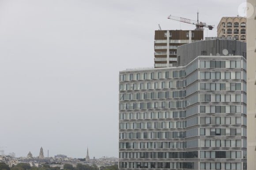
[[246,44],[203,40],[177,56],[120,71],[120,170],[245,170]]

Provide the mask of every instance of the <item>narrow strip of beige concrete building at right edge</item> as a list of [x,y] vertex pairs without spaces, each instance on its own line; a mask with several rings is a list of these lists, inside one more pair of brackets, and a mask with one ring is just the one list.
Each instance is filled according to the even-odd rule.
[[248,170],[256,169],[256,6],[255,0],[247,0],[252,6],[247,12],[247,152]]

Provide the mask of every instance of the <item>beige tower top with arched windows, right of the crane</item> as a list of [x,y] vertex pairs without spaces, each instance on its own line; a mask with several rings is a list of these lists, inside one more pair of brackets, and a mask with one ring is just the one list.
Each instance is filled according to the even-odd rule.
[[218,37],[246,41],[245,17],[222,17],[217,27]]

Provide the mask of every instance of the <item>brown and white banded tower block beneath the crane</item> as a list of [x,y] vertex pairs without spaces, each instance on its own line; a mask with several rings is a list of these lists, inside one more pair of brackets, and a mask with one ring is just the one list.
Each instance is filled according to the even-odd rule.
[[203,40],[202,30],[156,30],[154,32],[154,68],[177,65],[177,47]]

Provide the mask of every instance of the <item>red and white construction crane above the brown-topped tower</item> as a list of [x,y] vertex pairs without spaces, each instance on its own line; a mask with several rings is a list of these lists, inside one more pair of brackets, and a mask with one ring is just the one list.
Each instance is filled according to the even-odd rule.
[[179,21],[179,22],[185,22],[188,24],[193,24],[196,25],[196,29],[195,30],[203,30],[203,27],[208,28],[209,30],[212,30],[214,25],[207,25],[205,22],[200,22],[198,20],[198,12],[197,12],[197,21],[191,20],[191,19],[187,19],[187,18],[181,18],[181,17],[174,17],[172,15],[169,15],[168,19],[171,20],[175,20],[175,21]]

